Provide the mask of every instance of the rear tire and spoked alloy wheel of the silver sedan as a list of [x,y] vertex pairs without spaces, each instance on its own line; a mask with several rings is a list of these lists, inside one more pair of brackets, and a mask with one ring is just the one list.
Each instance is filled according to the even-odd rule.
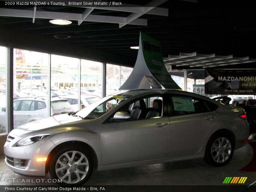
[[204,160],[216,167],[227,164],[234,152],[235,141],[225,132],[214,134],[207,143]]

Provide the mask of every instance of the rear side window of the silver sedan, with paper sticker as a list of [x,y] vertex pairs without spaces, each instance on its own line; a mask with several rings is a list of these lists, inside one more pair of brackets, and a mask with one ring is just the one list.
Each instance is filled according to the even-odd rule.
[[172,116],[208,112],[204,101],[186,96],[172,96]]

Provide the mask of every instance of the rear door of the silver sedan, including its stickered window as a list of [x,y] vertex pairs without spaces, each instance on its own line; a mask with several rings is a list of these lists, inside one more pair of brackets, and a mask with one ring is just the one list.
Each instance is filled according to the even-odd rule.
[[218,115],[206,101],[189,96],[170,96],[172,114],[168,156],[198,152],[217,122]]

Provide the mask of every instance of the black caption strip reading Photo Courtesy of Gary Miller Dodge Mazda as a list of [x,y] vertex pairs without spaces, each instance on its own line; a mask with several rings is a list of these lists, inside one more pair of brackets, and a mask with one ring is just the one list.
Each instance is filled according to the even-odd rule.
[[256,186],[252,185],[104,185],[104,186],[53,186],[53,185],[2,185],[0,191],[10,192],[60,192],[60,191],[88,191],[88,192],[170,192],[170,191],[182,191],[182,192],[253,192],[256,191]]

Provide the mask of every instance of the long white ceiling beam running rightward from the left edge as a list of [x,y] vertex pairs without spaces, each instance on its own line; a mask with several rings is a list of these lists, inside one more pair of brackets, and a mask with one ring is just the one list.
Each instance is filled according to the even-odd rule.
[[[19,10],[19,9],[4,9],[0,8],[0,16],[9,17],[27,17],[33,18],[33,11]],[[82,14],[78,13],[64,13],[64,12],[48,12],[48,11],[36,11],[35,18],[40,19],[68,19],[68,20],[82,20]],[[125,17],[114,17],[105,15],[88,15],[84,21],[103,22],[103,23],[126,23]],[[129,24],[147,26],[147,20],[136,19]]]

